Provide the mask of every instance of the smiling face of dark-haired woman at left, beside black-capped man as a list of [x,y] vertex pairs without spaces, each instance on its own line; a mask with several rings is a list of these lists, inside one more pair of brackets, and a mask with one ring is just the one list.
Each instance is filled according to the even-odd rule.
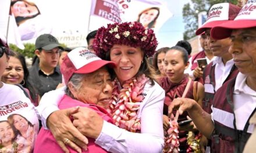
[[24,79],[22,63],[16,57],[10,56],[8,67],[2,75],[2,82],[8,84],[20,84]]

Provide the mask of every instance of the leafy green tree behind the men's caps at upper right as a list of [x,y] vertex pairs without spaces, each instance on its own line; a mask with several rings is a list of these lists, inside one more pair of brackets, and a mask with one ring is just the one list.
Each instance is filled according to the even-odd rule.
[[191,0],[183,6],[183,21],[185,23],[185,32],[183,39],[187,40],[195,37],[195,31],[198,28],[198,13],[208,12],[208,9],[215,3],[229,2],[237,4],[237,0]]

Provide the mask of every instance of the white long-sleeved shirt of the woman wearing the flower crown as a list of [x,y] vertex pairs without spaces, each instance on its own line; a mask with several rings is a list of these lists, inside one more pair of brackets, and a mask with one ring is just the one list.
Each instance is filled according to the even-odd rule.
[[[65,94],[64,89],[53,90],[42,96],[37,110],[45,129],[47,129],[46,119],[49,114],[59,110],[58,103]],[[110,152],[162,152],[164,144],[162,114],[165,92],[155,82],[154,86],[147,83],[143,93],[145,99],[137,112],[138,118],[141,118],[141,133],[127,132],[104,121],[102,131],[95,141],[96,144]]]

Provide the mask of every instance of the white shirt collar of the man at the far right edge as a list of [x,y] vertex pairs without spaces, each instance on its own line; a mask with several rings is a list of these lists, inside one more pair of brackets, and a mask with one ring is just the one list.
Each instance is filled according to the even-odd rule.
[[256,91],[246,84],[246,78],[247,76],[241,72],[237,74],[236,83],[234,84],[234,94],[240,94],[240,92],[243,92],[251,96],[256,96]]

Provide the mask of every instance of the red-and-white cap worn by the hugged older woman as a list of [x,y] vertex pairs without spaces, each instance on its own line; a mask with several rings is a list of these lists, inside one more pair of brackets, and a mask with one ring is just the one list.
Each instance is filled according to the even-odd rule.
[[86,48],[76,48],[67,53],[61,65],[61,73],[67,85],[74,73],[89,74],[104,65],[111,68],[116,66],[113,61],[102,60]]

